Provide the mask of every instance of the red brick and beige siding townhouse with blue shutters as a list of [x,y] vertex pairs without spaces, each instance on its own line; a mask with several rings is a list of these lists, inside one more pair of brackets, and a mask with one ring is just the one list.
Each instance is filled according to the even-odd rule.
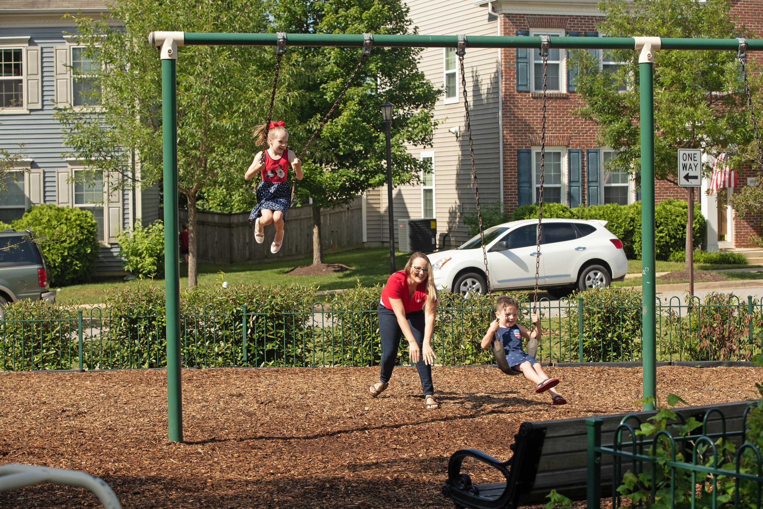
[[[736,0],[733,14],[756,34],[763,33],[763,2]],[[591,0],[497,0],[452,2],[409,0],[410,17],[420,34],[550,35],[600,37],[597,23],[603,18]],[[600,66],[616,66],[597,52]],[[619,203],[639,199],[633,179],[625,173],[604,171],[613,152],[597,145],[595,124],[578,118],[574,111],[582,101],[575,92],[565,50],[549,55],[546,112],[546,201],[575,207]],[[455,50],[431,48],[421,53],[420,69],[434,85],[444,89],[435,107],[439,125],[433,147],[409,147],[411,153],[429,159],[433,175],[420,185],[394,189],[395,220],[433,217],[437,220],[440,248],[459,245],[468,238],[464,215],[473,213],[475,197],[471,182],[468,140],[461,95],[461,76]],[[483,206],[497,200],[513,210],[536,201],[536,170],[539,167],[542,75],[539,56],[532,50],[467,48],[465,75],[472,108],[472,137]],[[754,176],[751,168],[738,172],[738,185]],[[707,195],[709,179],[695,199],[708,220],[707,248],[748,246],[749,234],[763,234],[761,217],[736,218],[730,208],[716,207],[715,195]],[[738,191],[739,188],[737,188]],[[734,192],[728,189],[728,192]],[[387,190],[379,188],[364,197],[364,240],[386,243]],[[687,191],[658,181],[655,198],[687,199]]]

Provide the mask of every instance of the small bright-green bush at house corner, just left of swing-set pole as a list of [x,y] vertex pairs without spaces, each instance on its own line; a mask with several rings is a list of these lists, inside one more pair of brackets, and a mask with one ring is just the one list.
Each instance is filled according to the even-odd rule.
[[147,227],[135,221],[132,231],[117,234],[122,266],[135,275],[156,275],[164,266],[164,224],[154,221]]

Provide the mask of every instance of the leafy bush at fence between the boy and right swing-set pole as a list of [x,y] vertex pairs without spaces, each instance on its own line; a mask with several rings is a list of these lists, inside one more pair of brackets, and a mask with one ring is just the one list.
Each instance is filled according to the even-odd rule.
[[[583,360],[617,362],[641,359],[641,292],[627,287],[594,288],[576,295],[583,298]],[[571,305],[566,321],[567,349],[578,353],[578,307]],[[577,341],[576,341],[577,340]],[[562,345],[562,349],[565,346]]]

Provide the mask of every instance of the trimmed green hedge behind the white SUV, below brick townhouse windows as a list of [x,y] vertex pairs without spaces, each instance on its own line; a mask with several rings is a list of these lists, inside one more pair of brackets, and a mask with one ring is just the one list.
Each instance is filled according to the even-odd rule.
[[[522,205],[511,214],[498,214],[496,205],[486,208],[483,224],[486,228],[507,221],[520,221],[538,217],[538,205]],[[464,219],[464,223],[475,229],[476,214]],[[561,217],[568,219],[600,219],[607,222],[607,230],[623,241],[623,250],[629,259],[641,258],[641,202],[632,205],[593,205],[591,207],[569,208],[559,203],[543,205],[543,217]],[[655,206],[655,256],[667,260],[677,250],[686,247],[686,223],[688,204],[683,200],[665,200]],[[705,242],[705,218],[694,208],[694,245]],[[478,231],[478,230],[477,230]]]

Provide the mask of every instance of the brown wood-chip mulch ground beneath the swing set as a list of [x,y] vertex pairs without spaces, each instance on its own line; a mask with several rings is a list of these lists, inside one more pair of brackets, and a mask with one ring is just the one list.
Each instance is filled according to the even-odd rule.
[[[456,449],[506,459],[523,420],[639,408],[641,369],[548,373],[569,404],[495,368],[435,367],[442,407],[425,411],[413,368],[395,369],[377,399],[366,391],[378,368],[185,369],[185,443],[167,440],[163,370],[2,373],[0,464],[98,475],[123,507],[452,507],[440,488]],[[755,398],[763,368],[657,376],[662,398],[708,404]],[[0,507],[96,505],[66,486],[0,493]]]

